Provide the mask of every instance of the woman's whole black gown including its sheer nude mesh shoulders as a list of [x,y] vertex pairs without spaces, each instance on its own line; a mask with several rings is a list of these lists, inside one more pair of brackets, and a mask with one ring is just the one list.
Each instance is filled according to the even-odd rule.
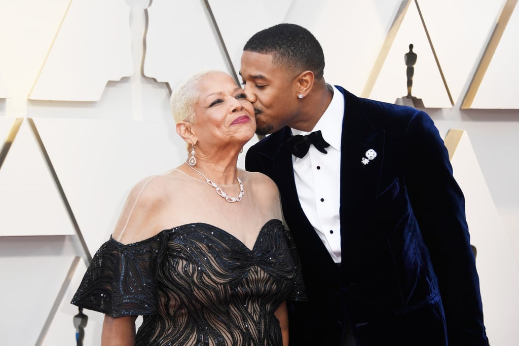
[[244,196],[228,203],[192,173],[181,166],[135,185],[72,303],[144,315],[138,345],[282,344],[274,312],[305,294],[276,185],[240,170]]

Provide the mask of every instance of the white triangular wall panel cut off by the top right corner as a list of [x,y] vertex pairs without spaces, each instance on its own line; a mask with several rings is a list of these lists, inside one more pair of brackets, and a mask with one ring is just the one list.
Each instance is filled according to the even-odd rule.
[[516,87],[519,79],[519,64],[516,60],[517,37],[519,37],[519,6],[516,5],[471,108],[519,109]]

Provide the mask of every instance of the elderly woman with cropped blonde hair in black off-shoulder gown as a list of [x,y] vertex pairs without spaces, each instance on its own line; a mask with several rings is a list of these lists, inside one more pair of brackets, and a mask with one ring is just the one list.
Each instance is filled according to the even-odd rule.
[[136,184],[72,303],[105,314],[107,345],[286,345],[285,300],[304,294],[278,190],[236,167],[254,109],[217,71],[171,109],[186,162]]

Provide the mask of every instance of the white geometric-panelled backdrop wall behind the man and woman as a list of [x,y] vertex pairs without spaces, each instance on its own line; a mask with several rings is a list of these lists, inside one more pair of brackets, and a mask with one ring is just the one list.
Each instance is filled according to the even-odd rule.
[[[186,157],[170,90],[201,69],[237,75],[252,34],[292,22],[320,40],[328,82],[391,103],[414,45],[413,94],[443,136],[464,130],[452,162],[488,336],[516,345],[516,3],[0,0],[0,343],[75,343],[69,301],[129,189]],[[86,313],[84,344],[99,344],[102,315]]]

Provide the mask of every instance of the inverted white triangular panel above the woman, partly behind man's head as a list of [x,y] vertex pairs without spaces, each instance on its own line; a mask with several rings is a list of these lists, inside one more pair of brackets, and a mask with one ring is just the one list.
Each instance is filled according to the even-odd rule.
[[[240,71],[241,53],[247,40],[256,32],[283,22],[291,0],[266,0],[261,2],[240,2],[235,0],[213,0],[209,2],[218,29],[225,42],[236,74]],[[237,29],[237,18],[249,18],[254,13],[255,20],[248,21]]]

